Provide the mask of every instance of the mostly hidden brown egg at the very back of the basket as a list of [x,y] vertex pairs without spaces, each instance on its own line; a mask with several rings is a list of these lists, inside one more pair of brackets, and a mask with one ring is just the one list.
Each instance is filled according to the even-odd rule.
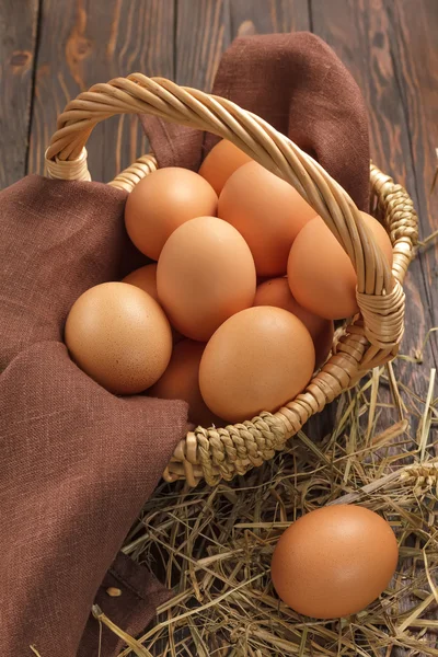
[[210,183],[219,196],[230,175],[247,162],[252,162],[250,155],[241,151],[232,141],[222,139],[207,154],[200,165],[199,175]]

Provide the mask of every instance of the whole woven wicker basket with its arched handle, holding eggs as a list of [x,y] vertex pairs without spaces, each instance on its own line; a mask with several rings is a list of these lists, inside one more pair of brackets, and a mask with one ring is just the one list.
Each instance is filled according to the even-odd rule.
[[[272,459],[311,415],[372,367],[393,358],[403,335],[403,278],[417,240],[417,216],[401,185],[370,168],[372,208],[393,245],[392,272],[348,194],[308,154],[260,117],[230,101],[140,73],[96,84],[68,103],[46,152],[48,176],[91,180],[87,140],[94,126],[116,114],[152,114],[233,141],[263,166],[290,183],[324,219],[357,273],[360,314],[336,333],[332,356],[304,392],[277,413],[261,413],[226,428],[197,427],[177,446],[164,479],[196,486],[230,480]],[[139,158],[111,185],[130,192],[157,169],[153,155]]]

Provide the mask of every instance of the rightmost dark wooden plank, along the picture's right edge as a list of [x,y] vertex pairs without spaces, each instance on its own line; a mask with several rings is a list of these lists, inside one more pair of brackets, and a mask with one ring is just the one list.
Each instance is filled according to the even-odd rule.
[[[402,94],[414,182],[420,218],[420,239],[438,230],[438,187],[431,193],[438,166],[438,2],[388,2],[393,65]],[[434,325],[438,325],[437,241],[420,254]],[[435,337],[434,337],[435,339]]]

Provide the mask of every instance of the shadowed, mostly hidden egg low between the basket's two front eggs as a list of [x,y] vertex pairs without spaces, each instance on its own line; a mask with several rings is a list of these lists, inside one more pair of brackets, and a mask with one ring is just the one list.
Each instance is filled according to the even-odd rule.
[[184,400],[188,404],[188,419],[203,427],[223,424],[207,408],[199,390],[199,362],[205,344],[182,339],[175,345],[168,369],[149,389],[150,396],[162,400]]

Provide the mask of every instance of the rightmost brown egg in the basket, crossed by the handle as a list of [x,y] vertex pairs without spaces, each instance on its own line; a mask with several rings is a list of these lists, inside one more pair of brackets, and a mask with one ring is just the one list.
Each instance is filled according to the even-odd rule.
[[[361,212],[361,216],[392,265],[392,246],[387,231],[370,215]],[[293,242],[288,280],[297,301],[322,318],[342,320],[359,311],[357,276],[351,261],[321,217],[309,221]]]

